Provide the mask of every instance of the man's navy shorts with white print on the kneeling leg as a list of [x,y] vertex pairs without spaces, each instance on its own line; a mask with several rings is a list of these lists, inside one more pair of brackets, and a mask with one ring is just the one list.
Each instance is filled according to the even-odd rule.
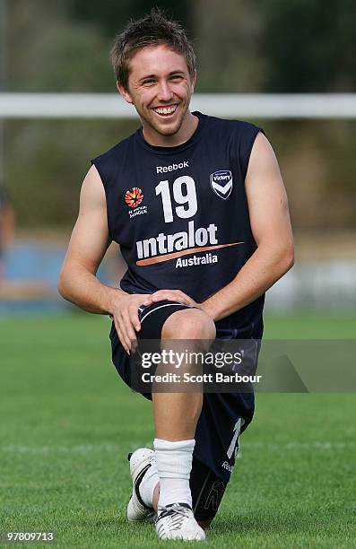
[[[158,301],[139,308],[140,339],[161,339],[161,328],[171,314],[190,309],[175,301]],[[217,339],[235,339],[236,330],[219,329]],[[120,377],[131,387],[130,359],[120,343],[114,323],[110,332],[112,361]],[[152,398],[150,393],[144,393]],[[239,432],[246,430],[255,411],[253,392],[204,393],[203,408],[195,431],[191,489],[195,518],[213,518],[230,480],[239,449]],[[232,448],[233,446],[233,448]]]

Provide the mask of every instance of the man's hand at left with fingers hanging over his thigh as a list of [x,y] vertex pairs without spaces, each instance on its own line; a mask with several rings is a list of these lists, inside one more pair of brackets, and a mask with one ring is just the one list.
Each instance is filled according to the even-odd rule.
[[111,314],[117,328],[118,338],[127,354],[130,354],[131,349],[135,350],[136,332],[141,329],[138,308],[147,300],[147,297],[147,293],[117,292],[112,301]]

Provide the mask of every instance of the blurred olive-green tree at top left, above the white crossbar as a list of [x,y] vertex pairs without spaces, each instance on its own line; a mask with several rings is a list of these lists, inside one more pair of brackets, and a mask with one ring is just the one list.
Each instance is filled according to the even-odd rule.
[[63,6],[16,0],[10,9],[10,70],[13,92],[109,92],[114,77],[109,40],[89,23],[66,19]]

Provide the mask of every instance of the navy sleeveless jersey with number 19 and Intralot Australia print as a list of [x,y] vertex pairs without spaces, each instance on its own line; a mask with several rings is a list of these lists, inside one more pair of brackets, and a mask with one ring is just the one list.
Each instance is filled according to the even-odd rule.
[[[120,245],[128,293],[178,289],[202,302],[230,283],[256,250],[245,193],[261,128],[199,118],[184,144],[148,144],[139,128],[91,162],[105,188],[109,237]],[[261,338],[265,296],[216,322]]]

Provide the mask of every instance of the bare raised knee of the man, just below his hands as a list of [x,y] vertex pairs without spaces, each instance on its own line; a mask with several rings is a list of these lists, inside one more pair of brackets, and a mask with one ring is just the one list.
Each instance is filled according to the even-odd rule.
[[162,327],[163,339],[213,340],[216,328],[213,319],[200,309],[184,309],[170,315]]

